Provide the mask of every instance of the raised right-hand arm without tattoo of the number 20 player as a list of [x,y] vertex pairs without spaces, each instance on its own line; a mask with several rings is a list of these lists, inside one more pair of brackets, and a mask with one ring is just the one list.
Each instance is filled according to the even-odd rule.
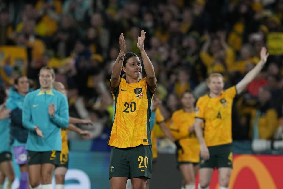
[[144,63],[144,70],[145,73],[147,74],[147,79],[146,79],[147,84],[151,89],[154,89],[157,81],[155,78],[153,65],[149,60],[147,53],[144,50],[144,39],[145,39],[145,32],[144,30],[141,30],[141,36],[138,36],[137,47],[139,48],[139,51],[141,53],[142,62]]

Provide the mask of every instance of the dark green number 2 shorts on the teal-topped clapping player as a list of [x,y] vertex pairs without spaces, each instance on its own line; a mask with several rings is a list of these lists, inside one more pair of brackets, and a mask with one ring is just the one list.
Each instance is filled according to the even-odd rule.
[[60,151],[27,151],[28,154],[28,164],[38,165],[51,163],[55,166],[60,164]]

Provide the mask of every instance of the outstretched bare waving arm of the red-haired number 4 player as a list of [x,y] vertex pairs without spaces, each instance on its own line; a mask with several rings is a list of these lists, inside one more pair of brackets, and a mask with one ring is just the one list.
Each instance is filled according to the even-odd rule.
[[246,86],[252,80],[254,80],[254,78],[257,76],[257,74],[259,74],[259,72],[263,68],[264,64],[266,63],[268,55],[269,55],[269,53],[267,52],[267,49],[265,47],[262,47],[261,51],[260,51],[260,61],[259,61],[259,63],[257,63],[256,66],[251,71],[249,71],[238,84],[236,84],[236,89],[237,89],[238,94],[243,92],[243,90],[246,88]]

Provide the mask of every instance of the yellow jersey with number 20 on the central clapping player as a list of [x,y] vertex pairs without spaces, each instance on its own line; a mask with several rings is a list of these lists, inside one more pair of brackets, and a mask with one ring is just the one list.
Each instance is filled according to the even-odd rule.
[[117,148],[152,145],[149,119],[154,92],[146,78],[137,83],[127,83],[121,78],[119,86],[111,93],[115,117],[108,145]]

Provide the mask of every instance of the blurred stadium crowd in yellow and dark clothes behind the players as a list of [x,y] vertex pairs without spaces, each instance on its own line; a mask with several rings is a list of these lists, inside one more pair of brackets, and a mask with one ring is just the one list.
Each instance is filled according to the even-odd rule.
[[225,89],[235,85],[267,46],[263,71],[233,102],[233,139],[274,139],[283,125],[283,50],[276,46],[283,42],[282,22],[281,0],[0,1],[0,86],[8,90],[24,74],[37,89],[40,68],[54,68],[55,80],[68,89],[70,116],[91,119],[95,127],[81,127],[96,138],[111,127],[109,79],[120,33],[127,50],[139,55],[136,37],[147,32],[165,120],[180,108],[185,90],[207,94],[208,74],[223,74]]

